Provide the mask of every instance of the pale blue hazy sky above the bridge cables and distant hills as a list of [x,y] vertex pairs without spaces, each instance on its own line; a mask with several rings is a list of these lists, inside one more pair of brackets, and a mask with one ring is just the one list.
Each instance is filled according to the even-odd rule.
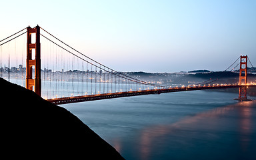
[[38,24],[117,71],[221,71],[239,55],[249,55],[256,65],[256,1],[0,4],[0,39]]

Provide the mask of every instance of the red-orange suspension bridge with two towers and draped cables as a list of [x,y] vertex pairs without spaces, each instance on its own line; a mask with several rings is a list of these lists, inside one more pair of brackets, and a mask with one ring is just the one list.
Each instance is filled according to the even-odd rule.
[[[95,101],[137,95],[204,89],[239,88],[237,100],[247,101],[247,55],[241,55],[222,74],[239,66],[237,83],[208,79],[194,85],[171,87],[141,81],[91,59],[39,27],[26,27],[0,41],[0,77],[35,91],[55,104]],[[235,67],[233,67],[235,66]]]

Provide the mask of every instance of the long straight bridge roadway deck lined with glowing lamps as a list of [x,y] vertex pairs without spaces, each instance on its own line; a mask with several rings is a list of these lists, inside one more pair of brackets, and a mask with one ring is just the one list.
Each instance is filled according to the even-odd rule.
[[[243,85],[244,86],[244,85]],[[247,87],[256,87],[255,84],[246,85]],[[75,97],[62,97],[55,99],[47,99],[47,101],[54,103],[56,105],[67,104],[67,103],[77,103],[83,101],[95,101],[100,99],[113,99],[119,97],[130,97],[136,95],[151,95],[151,94],[161,94],[179,91],[196,91],[205,89],[227,89],[227,88],[239,88],[241,85],[213,85],[213,86],[191,86],[191,87],[172,87],[166,89],[149,89],[142,91],[127,91],[118,93],[103,93],[97,95],[81,95]]]

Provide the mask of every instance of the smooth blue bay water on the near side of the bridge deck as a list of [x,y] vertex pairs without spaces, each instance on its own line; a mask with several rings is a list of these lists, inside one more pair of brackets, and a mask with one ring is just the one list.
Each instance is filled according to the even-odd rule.
[[256,101],[237,96],[189,91],[61,107],[125,159],[256,159]]

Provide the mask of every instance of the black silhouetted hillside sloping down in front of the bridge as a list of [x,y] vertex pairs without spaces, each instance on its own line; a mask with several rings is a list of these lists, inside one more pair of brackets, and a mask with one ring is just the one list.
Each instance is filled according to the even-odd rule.
[[0,78],[1,156],[29,159],[123,159],[66,109]]

